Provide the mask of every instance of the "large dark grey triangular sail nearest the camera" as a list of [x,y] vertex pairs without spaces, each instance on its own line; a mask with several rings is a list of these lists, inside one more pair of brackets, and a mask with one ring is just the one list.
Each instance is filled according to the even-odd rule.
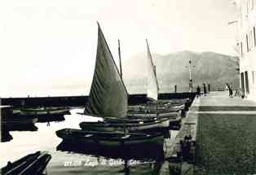
[[98,24],[95,73],[85,113],[101,117],[126,117],[128,94]]

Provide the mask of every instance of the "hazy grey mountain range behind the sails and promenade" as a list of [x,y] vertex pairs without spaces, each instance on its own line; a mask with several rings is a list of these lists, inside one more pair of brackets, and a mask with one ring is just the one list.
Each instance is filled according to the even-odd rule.
[[[125,59],[123,77],[129,93],[145,93],[147,89],[147,58],[140,53]],[[234,89],[239,86],[237,57],[214,52],[179,51],[167,55],[152,54],[157,68],[157,81],[161,92],[188,91],[189,60],[192,65],[193,87],[210,84],[212,90],[223,90],[224,84],[230,83]]]

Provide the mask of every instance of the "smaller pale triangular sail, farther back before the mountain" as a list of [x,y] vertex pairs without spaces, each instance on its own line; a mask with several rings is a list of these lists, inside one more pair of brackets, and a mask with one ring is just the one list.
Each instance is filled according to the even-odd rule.
[[158,84],[157,84],[157,72],[156,67],[154,66],[152,62],[152,55],[149,50],[148,46],[148,40],[147,42],[147,49],[148,49],[148,55],[147,55],[147,68],[148,68],[148,90],[147,90],[147,97],[152,98],[154,100],[157,100],[158,98]]

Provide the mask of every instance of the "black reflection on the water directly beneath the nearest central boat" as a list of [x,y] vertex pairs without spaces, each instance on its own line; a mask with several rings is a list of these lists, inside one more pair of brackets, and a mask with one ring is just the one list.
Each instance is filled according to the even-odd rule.
[[56,147],[57,151],[65,151],[68,154],[93,155],[102,159],[128,159],[128,160],[164,160],[164,150],[154,143],[145,147],[145,144],[136,147],[92,147],[79,141],[64,140]]

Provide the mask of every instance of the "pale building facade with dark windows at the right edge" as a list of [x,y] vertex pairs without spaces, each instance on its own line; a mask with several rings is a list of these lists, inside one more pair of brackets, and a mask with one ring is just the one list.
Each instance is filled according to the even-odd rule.
[[241,90],[256,101],[256,0],[236,0]]

